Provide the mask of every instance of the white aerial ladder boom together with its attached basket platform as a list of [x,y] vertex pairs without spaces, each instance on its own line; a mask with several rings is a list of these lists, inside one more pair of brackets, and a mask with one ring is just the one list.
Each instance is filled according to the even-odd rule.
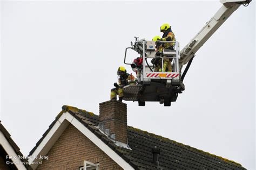
[[[131,42],[131,47],[125,49],[124,63],[131,65],[136,72],[137,81],[124,86],[123,100],[137,101],[139,106],[145,106],[145,102],[159,102],[170,107],[171,102],[176,102],[178,94],[185,90],[183,80],[194,54],[240,5],[246,6],[251,0],[220,0],[220,2],[223,4],[221,8],[181,51],[178,41],[155,42],[138,40],[138,37],[134,37],[136,39],[134,44]],[[174,46],[173,49],[160,51],[156,48],[157,43],[161,45],[173,43]],[[139,57],[132,63],[126,62],[127,49],[139,53]],[[170,70],[163,67],[166,58],[172,61]],[[181,75],[181,69],[186,63],[186,68]]]

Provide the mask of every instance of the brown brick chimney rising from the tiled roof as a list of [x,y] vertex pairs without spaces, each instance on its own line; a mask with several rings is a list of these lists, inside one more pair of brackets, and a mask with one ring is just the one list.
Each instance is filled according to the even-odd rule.
[[127,105],[119,101],[99,103],[99,128],[110,138],[127,144]]

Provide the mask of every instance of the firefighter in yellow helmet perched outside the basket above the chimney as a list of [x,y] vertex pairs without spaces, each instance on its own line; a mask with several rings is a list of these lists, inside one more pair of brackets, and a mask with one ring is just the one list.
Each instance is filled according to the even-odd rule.
[[117,100],[117,95],[119,96],[119,101],[122,102],[124,97],[124,86],[132,83],[134,81],[134,76],[126,72],[126,69],[120,66],[117,70],[118,83],[114,83],[113,89],[111,89],[110,99]]

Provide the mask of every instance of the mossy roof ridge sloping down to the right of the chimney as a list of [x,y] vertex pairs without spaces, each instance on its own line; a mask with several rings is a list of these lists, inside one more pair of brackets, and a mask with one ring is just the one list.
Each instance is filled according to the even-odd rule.
[[166,137],[163,137],[163,136],[154,134],[154,133],[150,133],[150,132],[147,132],[147,131],[138,129],[138,128],[134,128],[134,127],[132,127],[132,126],[127,126],[127,128],[129,128],[130,130],[142,132],[142,133],[144,133],[144,134],[150,134],[150,136],[152,136],[152,137],[156,137],[156,138],[162,139],[162,140],[164,140],[164,141],[171,141],[171,142],[176,143],[176,144],[178,144],[178,145],[180,145],[180,146],[185,146],[185,147],[188,147],[188,148],[190,148],[190,149],[192,149],[192,150],[196,150],[196,151],[199,151],[199,152],[203,152],[203,153],[205,153],[205,154],[208,154],[208,155],[211,155],[211,156],[213,156],[213,157],[219,158],[219,159],[224,160],[224,161],[226,161],[226,162],[231,162],[231,163],[233,163],[233,164],[242,166],[241,164],[239,164],[238,162],[235,162],[235,161],[233,161],[233,160],[229,160],[229,159],[220,157],[220,156],[218,156],[218,155],[215,155],[215,154],[212,154],[212,153],[209,153],[209,152],[205,152],[205,151],[203,151],[203,150],[199,150],[199,149],[197,149],[197,148],[195,148],[195,147],[191,147],[191,146],[189,146],[189,145],[184,145],[184,144],[182,144],[182,143],[179,143],[178,141],[171,140],[171,139],[169,139],[169,138],[166,138]]

